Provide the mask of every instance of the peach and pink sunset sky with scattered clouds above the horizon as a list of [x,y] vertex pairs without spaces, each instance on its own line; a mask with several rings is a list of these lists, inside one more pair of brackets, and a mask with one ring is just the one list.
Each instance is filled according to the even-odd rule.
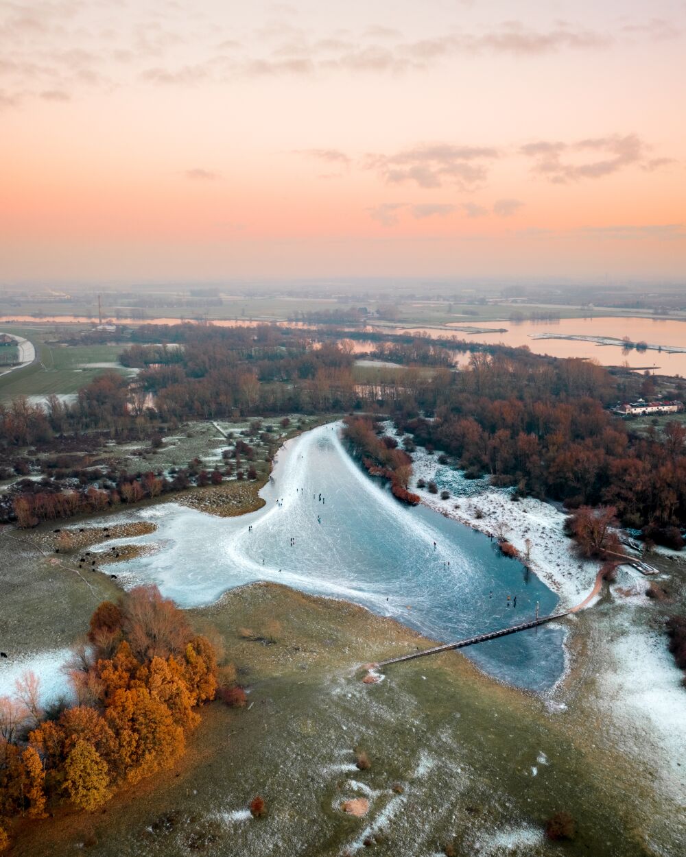
[[678,279],[681,0],[0,0],[0,285]]

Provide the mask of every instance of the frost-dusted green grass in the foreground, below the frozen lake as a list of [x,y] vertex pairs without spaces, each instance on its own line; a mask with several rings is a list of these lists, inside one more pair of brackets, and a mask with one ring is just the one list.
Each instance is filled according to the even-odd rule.
[[[360,663],[428,642],[352,604],[274,584],[232,590],[190,615],[219,632],[249,706],[209,705],[180,764],[102,814],[26,822],[13,854],[677,853],[678,820],[665,823],[670,808],[606,742],[582,692],[551,714],[545,699],[488,680],[457,654],[364,685]],[[576,680],[593,685],[587,671]],[[356,768],[356,750],[369,769]],[[256,794],[266,818],[246,812]],[[341,811],[358,797],[370,802],[366,817]],[[557,844],[543,828],[561,810],[575,837]]]

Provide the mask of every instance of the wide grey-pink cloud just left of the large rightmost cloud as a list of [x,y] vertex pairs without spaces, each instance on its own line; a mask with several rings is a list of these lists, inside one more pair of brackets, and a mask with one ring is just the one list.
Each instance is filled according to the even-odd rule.
[[364,165],[376,170],[382,181],[389,184],[414,182],[429,189],[450,183],[461,189],[473,189],[484,182],[488,163],[497,157],[497,150],[490,147],[436,143],[394,155],[369,155]]

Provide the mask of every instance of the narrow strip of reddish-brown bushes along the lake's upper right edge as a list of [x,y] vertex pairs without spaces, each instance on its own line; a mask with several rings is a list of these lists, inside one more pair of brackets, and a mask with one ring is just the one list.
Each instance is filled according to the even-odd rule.
[[398,441],[394,437],[384,435],[369,417],[346,417],[343,436],[362,459],[370,476],[388,479],[394,497],[410,506],[418,505],[421,498],[407,489],[412,476],[412,458],[397,448]]

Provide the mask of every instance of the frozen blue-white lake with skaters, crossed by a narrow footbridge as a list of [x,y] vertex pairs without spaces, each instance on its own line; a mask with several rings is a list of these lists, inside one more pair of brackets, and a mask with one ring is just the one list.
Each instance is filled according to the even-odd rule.
[[[557,596],[534,575],[525,581],[521,564],[488,537],[394,500],[352,461],[339,428],[322,426],[286,444],[258,512],[215,518],[176,504],[142,511],[158,530],[123,541],[158,549],[121,571],[158,584],[183,607],[272,580],[357,602],[441,641],[533,618],[537,601],[541,615],[554,610]],[[508,595],[517,596],[516,610]],[[563,630],[544,626],[466,654],[497,678],[545,690],[563,673]]]

